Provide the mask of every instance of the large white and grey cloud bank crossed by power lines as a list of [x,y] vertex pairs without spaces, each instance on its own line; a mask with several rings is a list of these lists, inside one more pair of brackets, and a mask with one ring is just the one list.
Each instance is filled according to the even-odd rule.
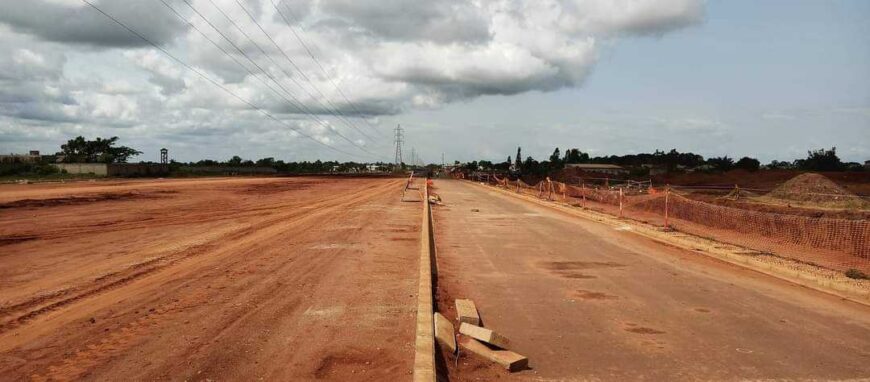
[[[362,139],[354,129],[367,129],[367,123],[356,117],[378,123],[381,115],[481,95],[578,87],[596,65],[603,40],[660,35],[703,18],[702,0],[242,2],[255,23],[235,0],[215,1],[232,21],[210,1],[192,0],[206,22],[184,2],[168,2],[183,20],[158,1],[96,4],[243,99],[343,149],[353,148],[336,131],[359,146],[388,144]],[[295,142],[295,148],[304,142],[77,1],[0,1],[0,49],[12,52],[0,55],[0,118],[17,126],[0,132],[3,137],[38,122],[53,126],[53,137],[127,129],[159,137],[149,139],[232,136]],[[71,55],[88,67],[67,65]],[[124,63],[129,66],[118,66]],[[353,126],[331,117],[334,109],[353,119]],[[305,119],[303,110],[320,114],[323,122]]]

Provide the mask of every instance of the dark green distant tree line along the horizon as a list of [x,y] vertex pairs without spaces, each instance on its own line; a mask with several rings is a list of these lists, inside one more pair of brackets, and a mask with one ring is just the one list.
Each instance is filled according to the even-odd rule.
[[[130,158],[142,154],[134,148],[118,145],[118,137],[108,139],[96,138],[88,140],[84,137],[76,137],[70,139],[65,144],[61,145],[61,151],[54,156],[47,156],[40,163],[11,163],[0,165],[0,175],[14,174],[50,174],[57,172],[56,168],[50,166],[50,162],[62,161],[66,163],[126,163]],[[521,175],[529,175],[535,177],[544,177],[551,173],[557,172],[565,168],[568,164],[579,163],[595,163],[595,164],[615,164],[626,167],[633,172],[632,175],[643,175],[648,173],[649,167],[665,168],[668,171],[694,170],[707,172],[722,172],[732,169],[744,169],[748,171],[756,171],[760,168],[765,169],[793,169],[804,171],[864,171],[863,165],[855,162],[844,163],[837,156],[837,149],[818,149],[807,152],[806,158],[796,159],[791,162],[774,160],[766,165],[751,157],[742,157],[734,160],[728,156],[712,157],[705,159],[703,156],[685,152],[681,153],[676,149],[671,149],[668,152],[656,150],[653,153],[628,154],[628,155],[608,155],[592,157],[588,153],[582,152],[579,149],[572,148],[565,150],[564,153],[557,147],[549,158],[543,161],[537,161],[531,156],[523,158],[522,148],[517,147],[517,153],[511,157],[508,155],[504,162],[492,162],[487,160],[473,161],[465,164],[456,162],[456,165],[461,166],[467,171],[501,171],[513,172]],[[217,161],[204,159],[197,162],[181,163],[172,161],[170,166],[173,170],[178,170],[183,166],[217,166],[217,167],[270,167],[281,173],[289,174],[316,174],[330,172],[368,172],[374,167],[376,171],[393,172],[407,168],[405,164],[396,166],[392,163],[377,162],[372,164],[359,162],[338,162],[338,161],[302,161],[302,162],[285,162],[283,160],[275,160],[275,158],[267,157],[256,161],[250,159],[242,159],[236,155],[226,161]],[[427,167],[437,167],[430,165]]]

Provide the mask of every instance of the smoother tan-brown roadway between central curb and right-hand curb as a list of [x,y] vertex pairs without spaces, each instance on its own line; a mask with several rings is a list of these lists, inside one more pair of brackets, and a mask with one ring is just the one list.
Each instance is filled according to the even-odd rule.
[[451,381],[870,377],[870,308],[464,181],[437,181],[438,309],[471,298],[532,369]]

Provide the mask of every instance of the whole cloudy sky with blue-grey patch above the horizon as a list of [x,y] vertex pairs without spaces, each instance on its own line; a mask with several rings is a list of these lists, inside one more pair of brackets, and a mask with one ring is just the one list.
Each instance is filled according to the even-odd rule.
[[0,152],[870,159],[868,1],[88,1],[0,0]]

